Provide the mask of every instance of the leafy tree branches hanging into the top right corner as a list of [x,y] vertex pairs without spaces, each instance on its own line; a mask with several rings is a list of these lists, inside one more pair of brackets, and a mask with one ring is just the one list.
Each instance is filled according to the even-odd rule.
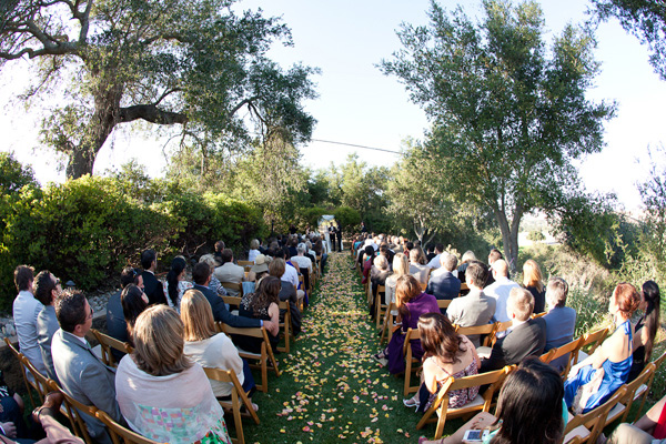
[[650,64],[666,80],[666,3],[658,0],[592,0],[601,20],[616,17],[625,31],[647,43]]

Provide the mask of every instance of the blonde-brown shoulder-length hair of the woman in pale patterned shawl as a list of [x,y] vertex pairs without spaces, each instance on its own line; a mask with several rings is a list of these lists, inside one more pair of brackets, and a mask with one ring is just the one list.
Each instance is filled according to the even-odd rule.
[[134,362],[143,372],[167,376],[190,369],[192,362],[183,354],[183,322],[175,310],[153,305],[134,324]]

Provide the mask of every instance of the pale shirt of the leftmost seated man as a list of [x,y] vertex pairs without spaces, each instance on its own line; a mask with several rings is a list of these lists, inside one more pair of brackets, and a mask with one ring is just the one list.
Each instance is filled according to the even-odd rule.
[[32,293],[22,290],[14,299],[12,310],[21,353],[23,353],[26,357],[30,360],[32,365],[46,376],[47,366],[42,361],[41,349],[37,341],[37,316],[43,307],[44,305],[39,302]]

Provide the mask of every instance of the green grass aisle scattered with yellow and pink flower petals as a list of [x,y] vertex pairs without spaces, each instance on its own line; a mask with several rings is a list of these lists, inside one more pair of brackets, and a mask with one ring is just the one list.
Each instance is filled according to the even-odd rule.
[[[329,270],[303,316],[292,353],[278,355],[269,393],[256,395],[259,426],[244,423],[249,443],[416,443],[420,415],[402,404],[402,377],[370,357],[379,335],[349,252]],[[230,418],[228,418],[230,421]],[[448,427],[447,427],[448,428]]]

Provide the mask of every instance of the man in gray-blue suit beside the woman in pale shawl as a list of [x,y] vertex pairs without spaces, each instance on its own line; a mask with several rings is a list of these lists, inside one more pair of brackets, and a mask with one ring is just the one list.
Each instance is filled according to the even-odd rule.
[[[80,291],[63,291],[56,301],[56,315],[60,330],[53,335],[51,352],[56,374],[62,389],[74,400],[94,405],[107,412],[113,421],[124,424],[115,401],[115,369],[95,356],[85,341],[92,326],[92,309]],[[110,444],[104,425],[83,415],[88,432],[98,443]]]

